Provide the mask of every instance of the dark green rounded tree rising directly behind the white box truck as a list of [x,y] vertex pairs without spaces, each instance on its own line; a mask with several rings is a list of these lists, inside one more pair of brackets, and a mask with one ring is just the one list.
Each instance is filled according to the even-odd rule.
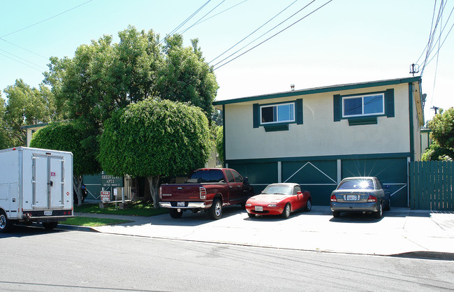
[[82,175],[99,173],[99,163],[91,147],[82,143],[91,133],[80,129],[72,122],[52,123],[34,133],[30,146],[73,152],[73,180],[78,196],[78,205],[82,205]]

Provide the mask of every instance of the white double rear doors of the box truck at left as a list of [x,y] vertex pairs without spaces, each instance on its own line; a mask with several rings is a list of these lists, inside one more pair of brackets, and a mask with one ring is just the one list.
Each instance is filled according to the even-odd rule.
[[33,207],[53,209],[64,207],[64,158],[33,154]]

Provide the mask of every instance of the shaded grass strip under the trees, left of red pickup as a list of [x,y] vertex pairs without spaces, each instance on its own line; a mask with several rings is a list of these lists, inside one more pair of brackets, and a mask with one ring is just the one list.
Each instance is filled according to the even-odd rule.
[[149,217],[168,213],[168,210],[166,208],[153,209],[153,203],[136,200],[130,202],[129,208],[124,210],[115,210],[115,203],[110,203],[109,206],[104,209],[100,209],[99,204],[82,204],[82,206],[74,206],[74,212]]

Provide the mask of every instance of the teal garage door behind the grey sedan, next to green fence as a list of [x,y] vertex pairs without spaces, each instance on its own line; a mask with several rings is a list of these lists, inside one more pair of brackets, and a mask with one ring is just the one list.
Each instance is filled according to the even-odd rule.
[[407,164],[406,158],[342,160],[342,178],[378,177],[389,186],[391,207],[407,207]]

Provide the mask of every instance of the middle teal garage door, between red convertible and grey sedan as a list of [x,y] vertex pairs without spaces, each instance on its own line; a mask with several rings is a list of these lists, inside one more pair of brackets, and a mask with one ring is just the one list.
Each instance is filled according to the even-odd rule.
[[330,205],[337,187],[337,161],[282,162],[282,182],[295,182],[311,192],[313,205]]

